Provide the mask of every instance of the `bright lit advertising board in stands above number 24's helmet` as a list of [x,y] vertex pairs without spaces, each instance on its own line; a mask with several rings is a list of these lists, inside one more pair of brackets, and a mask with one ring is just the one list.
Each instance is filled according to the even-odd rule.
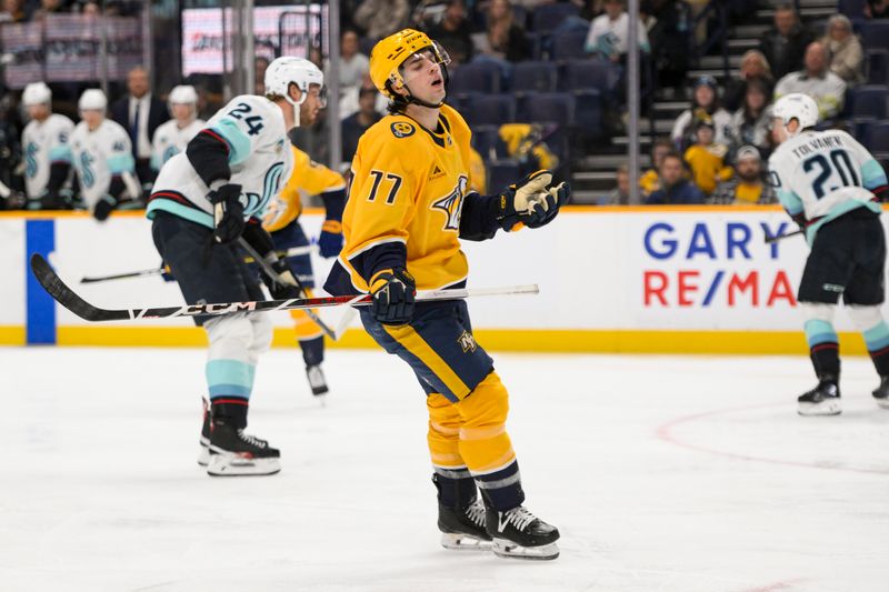
[[[223,71],[223,33],[232,34],[232,12],[218,8],[182,10],[182,76],[219,74]],[[327,7],[320,4],[260,7],[253,10],[256,53],[269,60],[278,56],[308,58],[310,48],[327,54]],[[231,69],[231,43],[228,64]]]

